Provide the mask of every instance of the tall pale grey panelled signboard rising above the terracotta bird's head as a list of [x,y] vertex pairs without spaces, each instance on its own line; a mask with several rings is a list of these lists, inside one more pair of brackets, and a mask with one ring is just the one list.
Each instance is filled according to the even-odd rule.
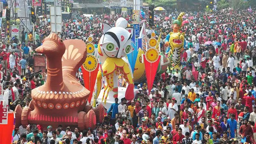
[[50,18],[51,18],[51,31],[58,33],[61,32],[61,7],[60,6],[50,6]]

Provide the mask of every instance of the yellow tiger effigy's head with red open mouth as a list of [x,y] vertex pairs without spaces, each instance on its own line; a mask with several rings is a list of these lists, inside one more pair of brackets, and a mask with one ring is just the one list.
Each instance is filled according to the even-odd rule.
[[180,48],[184,44],[184,33],[173,33],[170,32],[170,39],[169,39],[169,45],[172,48]]

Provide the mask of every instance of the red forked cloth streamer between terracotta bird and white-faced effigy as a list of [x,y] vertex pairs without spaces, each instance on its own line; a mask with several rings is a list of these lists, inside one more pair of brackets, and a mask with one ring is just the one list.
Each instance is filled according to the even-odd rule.
[[98,63],[97,68],[94,71],[91,71],[91,72],[85,70],[84,67],[81,67],[83,77],[84,77],[84,86],[87,90],[90,91],[90,95],[89,95],[89,98],[88,98],[89,104],[91,104],[92,92],[93,92],[94,85],[95,85],[95,82],[96,82],[99,66],[100,66],[100,64]]

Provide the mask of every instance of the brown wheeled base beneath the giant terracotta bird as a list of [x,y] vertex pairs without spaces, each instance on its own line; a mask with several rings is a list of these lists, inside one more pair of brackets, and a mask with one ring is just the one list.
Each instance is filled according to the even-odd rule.
[[[84,112],[85,111],[85,112]],[[28,124],[40,124],[41,121],[47,121],[47,125],[41,125],[46,128],[48,125],[52,125],[54,128],[58,126],[58,122],[61,122],[63,126],[78,126],[80,129],[88,129],[89,127],[95,128],[96,122],[102,122],[105,108],[100,104],[97,108],[91,106],[85,106],[84,111],[80,111],[76,116],[44,116],[42,114],[32,113],[31,108],[24,108],[22,110],[20,105],[15,108],[16,123],[15,126],[26,127]]]

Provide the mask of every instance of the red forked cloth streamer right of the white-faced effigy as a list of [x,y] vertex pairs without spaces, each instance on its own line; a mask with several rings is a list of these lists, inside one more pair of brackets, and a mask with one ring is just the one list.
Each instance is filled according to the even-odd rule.
[[148,91],[151,91],[153,82],[156,76],[156,70],[159,64],[161,56],[158,57],[158,59],[155,62],[149,62],[146,60],[146,56],[143,56],[144,59],[144,65],[145,65],[145,71],[146,71],[146,78],[148,82]]

